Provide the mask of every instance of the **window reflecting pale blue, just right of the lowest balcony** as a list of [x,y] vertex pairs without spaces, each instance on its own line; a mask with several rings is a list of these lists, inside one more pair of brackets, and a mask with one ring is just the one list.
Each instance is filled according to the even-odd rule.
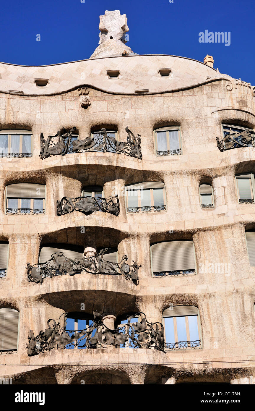
[[166,348],[170,350],[202,348],[197,307],[170,306],[163,312]]

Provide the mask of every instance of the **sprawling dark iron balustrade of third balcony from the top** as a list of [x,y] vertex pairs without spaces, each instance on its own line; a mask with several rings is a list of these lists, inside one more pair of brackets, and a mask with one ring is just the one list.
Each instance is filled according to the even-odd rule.
[[[108,261],[105,253],[108,248],[102,249],[95,256],[83,256],[82,259],[71,259],[64,256],[63,252],[56,252],[51,255],[51,259],[45,263],[37,263],[33,266],[27,263],[27,276],[29,282],[42,284],[46,277],[55,277],[57,275],[76,275],[82,271],[90,274],[112,274],[124,275],[125,279],[132,280],[136,285],[139,283],[138,270],[139,266],[135,261],[128,264],[128,256],[122,257],[119,263]],[[63,263],[60,263],[60,257],[64,257]]]

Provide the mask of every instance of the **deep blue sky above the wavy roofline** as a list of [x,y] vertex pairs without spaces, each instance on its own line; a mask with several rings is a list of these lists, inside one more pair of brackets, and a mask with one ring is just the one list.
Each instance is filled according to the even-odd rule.
[[[200,61],[209,54],[221,73],[255,85],[252,0],[2,0],[0,61],[47,65],[89,58],[99,42],[99,15],[115,9],[127,15],[128,45],[136,53]],[[198,34],[205,30],[230,32],[230,46],[199,43]]]

